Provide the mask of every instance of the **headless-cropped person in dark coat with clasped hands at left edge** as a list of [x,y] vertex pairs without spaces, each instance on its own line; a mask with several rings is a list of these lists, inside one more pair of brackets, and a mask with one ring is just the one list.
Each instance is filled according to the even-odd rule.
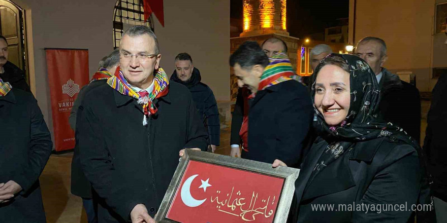
[[33,94],[0,79],[0,221],[46,222],[39,176],[53,143]]

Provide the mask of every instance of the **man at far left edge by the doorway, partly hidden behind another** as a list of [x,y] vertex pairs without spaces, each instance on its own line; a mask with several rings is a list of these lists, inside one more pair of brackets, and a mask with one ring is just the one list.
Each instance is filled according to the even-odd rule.
[[9,82],[13,88],[31,92],[23,70],[8,61],[8,42],[3,35],[0,35],[0,78]]

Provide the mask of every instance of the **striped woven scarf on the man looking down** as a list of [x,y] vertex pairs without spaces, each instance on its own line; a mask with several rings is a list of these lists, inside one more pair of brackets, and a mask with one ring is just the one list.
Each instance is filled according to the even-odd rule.
[[290,80],[300,81],[300,78],[295,74],[292,63],[287,55],[276,53],[269,58],[269,65],[264,69],[258,90],[263,90],[270,86]]

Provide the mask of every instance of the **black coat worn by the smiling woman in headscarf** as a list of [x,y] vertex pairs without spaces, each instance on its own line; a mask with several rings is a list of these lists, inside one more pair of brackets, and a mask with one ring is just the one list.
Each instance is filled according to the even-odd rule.
[[[411,205],[417,204],[421,182],[415,148],[394,136],[358,142],[354,150],[347,149],[308,182],[327,145],[324,139],[317,138],[304,159],[295,183],[292,222],[407,222]],[[348,210],[348,205],[353,204],[354,211]],[[408,210],[386,211],[386,207],[379,206],[380,213],[371,208],[365,213],[364,206],[356,211],[362,204],[406,204]],[[316,205],[334,206],[333,210],[328,210],[329,206],[313,210]]]

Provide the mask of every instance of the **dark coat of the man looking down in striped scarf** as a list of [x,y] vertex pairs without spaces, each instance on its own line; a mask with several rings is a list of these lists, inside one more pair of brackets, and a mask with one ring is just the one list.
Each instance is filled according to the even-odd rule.
[[275,159],[296,166],[310,128],[313,107],[306,87],[285,81],[258,91],[249,102],[248,153],[242,158],[265,163]]

